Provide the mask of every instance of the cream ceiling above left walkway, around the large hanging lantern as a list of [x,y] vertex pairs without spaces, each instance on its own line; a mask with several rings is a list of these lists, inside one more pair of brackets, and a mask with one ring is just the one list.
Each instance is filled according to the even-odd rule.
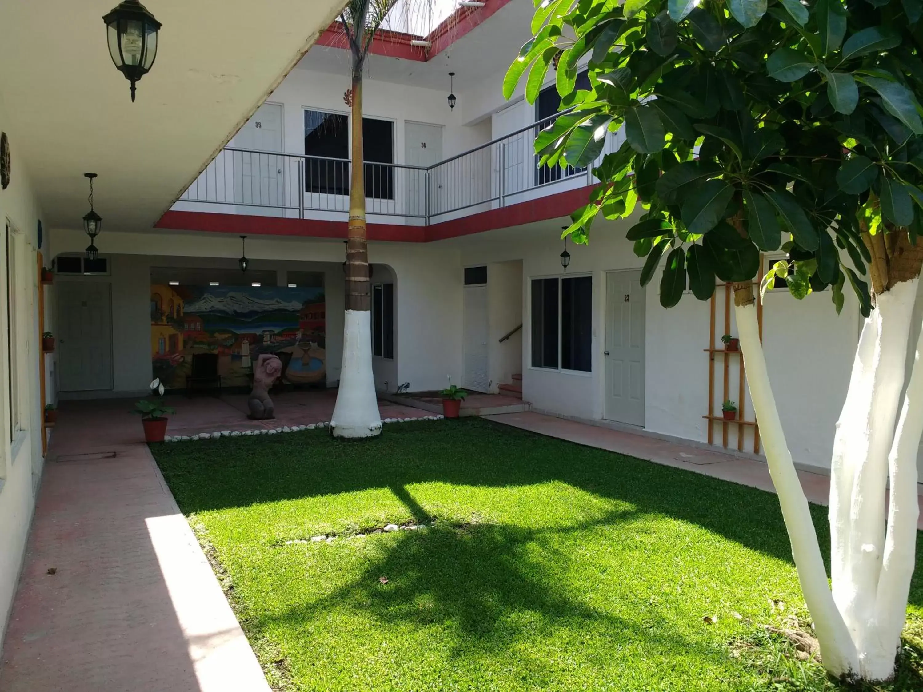
[[150,229],[345,3],[145,1],[163,27],[135,103],[106,47],[117,0],[0,2],[0,126],[46,228],[79,227],[90,171],[103,233]]

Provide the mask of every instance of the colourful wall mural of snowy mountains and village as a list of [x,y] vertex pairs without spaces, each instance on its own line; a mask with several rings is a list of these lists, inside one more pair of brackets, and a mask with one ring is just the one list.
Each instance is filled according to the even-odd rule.
[[260,353],[282,359],[282,381],[324,386],[326,308],[321,288],[150,287],[155,377],[185,388],[197,353],[218,354],[224,387],[249,387]]

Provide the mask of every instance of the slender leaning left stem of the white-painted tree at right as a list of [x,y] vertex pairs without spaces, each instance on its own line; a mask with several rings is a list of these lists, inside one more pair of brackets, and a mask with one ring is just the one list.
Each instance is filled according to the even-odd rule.
[[779,412],[775,406],[766,359],[762,352],[756,305],[737,305],[735,316],[740,350],[747,367],[750,399],[753,401],[753,409],[760,424],[766,461],[779,496],[788,539],[792,544],[792,556],[795,558],[801,591],[814,618],[814,631],[821,643],[823,664],[835,675],[856,671],[856,647],[842,615],[833,603],[833,594],[821,557],[821,547],[810,517],[808,499],[798,481],[795,464],[788,451]]

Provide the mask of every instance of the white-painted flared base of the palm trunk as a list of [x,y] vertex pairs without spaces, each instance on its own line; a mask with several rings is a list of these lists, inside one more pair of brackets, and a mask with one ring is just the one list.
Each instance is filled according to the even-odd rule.
[[372,372],[371,315],[367,310],[346,311],[340,389],[330,419],[334,437],[373,437],[381,433]]

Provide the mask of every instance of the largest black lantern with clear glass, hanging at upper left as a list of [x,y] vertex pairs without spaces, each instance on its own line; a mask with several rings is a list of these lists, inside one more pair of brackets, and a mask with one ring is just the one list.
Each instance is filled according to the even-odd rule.
[[157,32],[162,25],[138,0],[125,0],[102,21],[106,23],[109,54],[115,68],[131,82],[131,100],[135,101],[135,82],[154,64]]

